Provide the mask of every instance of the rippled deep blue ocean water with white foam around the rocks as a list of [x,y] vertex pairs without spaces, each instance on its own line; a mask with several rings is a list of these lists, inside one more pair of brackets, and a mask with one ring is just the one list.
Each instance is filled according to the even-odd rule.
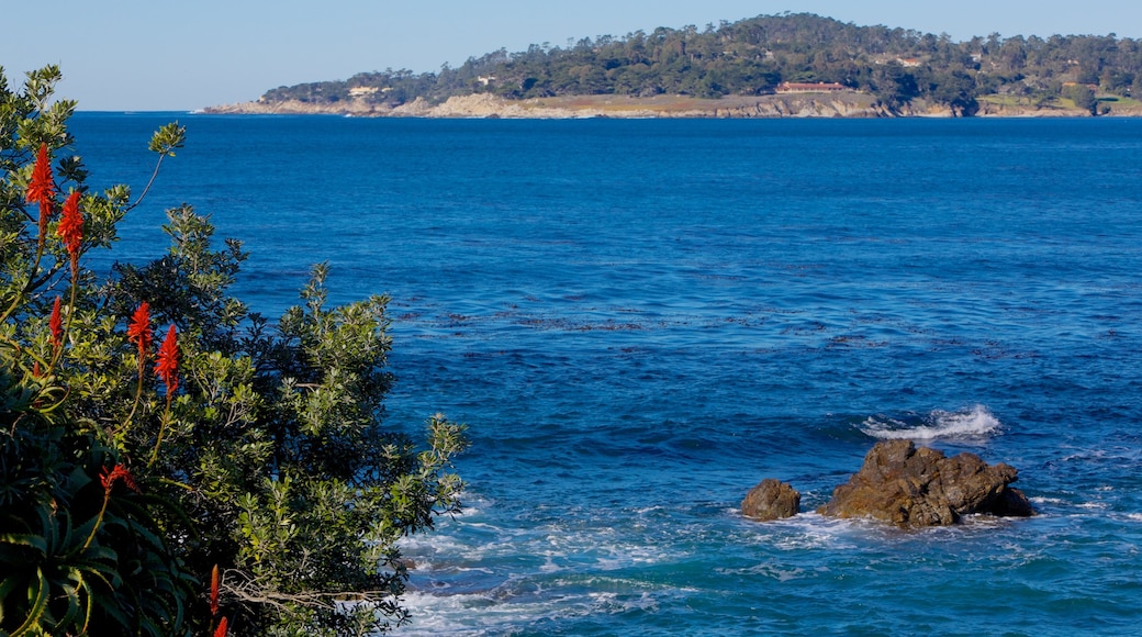
[[[142,187],[176,115],[83,113]],[[392,295],[394,427],[472,427],[403,635],[1128,635],[1142,611],[1142,121],[178,114],[163,208]],[[811,513],[878,440],[1020,469],[1030,519]],[[764,477],[803,493],[770,524]]]

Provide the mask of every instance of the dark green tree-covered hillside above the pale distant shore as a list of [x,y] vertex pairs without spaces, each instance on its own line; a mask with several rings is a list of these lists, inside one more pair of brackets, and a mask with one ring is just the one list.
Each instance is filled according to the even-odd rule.
[[364,100],[397,106],[490,92],[509,99],[566,95],[763,95],[782,82],[837,82],[876,95],[890,108],[914,98],[971,113],[984,95],[1046,104],[1067,99],[1094,112],[1096,92],[1142,94],[1142,41],[1115,34],[1000,38],[955,42],[886,26],[856,26],[812,14],[659,27],[617,38],[532,45],[473,57],[457,68],[386,70],[345,81],[280,87],[263,102]]

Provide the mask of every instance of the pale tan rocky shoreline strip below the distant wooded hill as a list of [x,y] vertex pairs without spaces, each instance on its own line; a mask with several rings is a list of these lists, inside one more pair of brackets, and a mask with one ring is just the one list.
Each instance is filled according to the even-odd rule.
[[[1076,108],[1011,104],[983,98],[974,118],[1091,118]],[[914,100],[900,110],[891,110],[875,96],[859,91],[804,92],[793,95],[727,96],[717,99],[687,96],[627,97],[584,95],[524,100],[509,100],[488,94],[455,96],[442,104],[424,99],[396,107],[377,105],[364,99],[335,104],[312,104],[297,100],[246,102],[210,106],[206,114],[288,114],[343,115],[360,118],[485,118],[485,119],[782,119],[782,118],[956,118],[963,116],[944,105]],[[1142,116],[1142,107],[1111,107],[1100,116]]]

